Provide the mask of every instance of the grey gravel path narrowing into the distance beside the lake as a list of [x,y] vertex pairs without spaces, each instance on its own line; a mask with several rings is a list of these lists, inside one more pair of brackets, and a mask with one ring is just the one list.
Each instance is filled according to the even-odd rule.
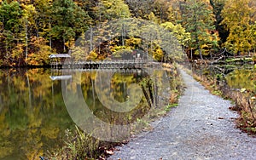
[[230,101],[181,73],[187,89],[177,108],[108,159],[256,159],[256,139],[235,129]]

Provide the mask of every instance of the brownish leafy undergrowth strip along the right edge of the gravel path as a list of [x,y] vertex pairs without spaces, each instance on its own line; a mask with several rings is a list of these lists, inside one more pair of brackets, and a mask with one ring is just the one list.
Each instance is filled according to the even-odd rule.
[[198,75],[194,72],[193,77],[212,94],[232,100],[234,106],[230,106],[230,110],[239,113],[239,117],[236,118],[236,127],[248,134],[256,135],[256,101],[252,91],[230,89],[207,74]]

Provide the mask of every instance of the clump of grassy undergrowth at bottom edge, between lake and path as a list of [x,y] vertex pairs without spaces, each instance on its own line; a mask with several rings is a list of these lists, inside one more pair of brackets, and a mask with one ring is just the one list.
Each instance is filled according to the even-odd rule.
[[[65,145],[61,149],[47,155],[47,159],[52,160],[68,160],[68,159],[105,159],[113,152],[113,146],[119,143],[110,143],[96,140],[90,134],[84,133],[76,127],[75,132],[66,130]],[[124,141],[125,143],[125,141]]]

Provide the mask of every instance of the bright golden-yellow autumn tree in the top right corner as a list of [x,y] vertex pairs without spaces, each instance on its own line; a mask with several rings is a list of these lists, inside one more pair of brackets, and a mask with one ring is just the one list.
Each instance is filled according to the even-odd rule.
[[222,24],[230,32],[224,44],[235,54],[246,53],[253,49],[251,28],[255,20],[255,11],[252,4],[253,0],[227,0],[224,5]]

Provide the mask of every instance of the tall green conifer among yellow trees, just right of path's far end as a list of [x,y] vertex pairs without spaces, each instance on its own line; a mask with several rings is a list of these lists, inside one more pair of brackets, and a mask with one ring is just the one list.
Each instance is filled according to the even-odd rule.
[[195,54],[199,54],[202,59],[203,54],[208,54],[205,48],[213,47],[212,38],[214,45],[218,41],[218,36],[213,31],[214,17],[211,6],[201,0],[188,0],[183,7],[183,26],[191,34],[190,48],[195,49]]

